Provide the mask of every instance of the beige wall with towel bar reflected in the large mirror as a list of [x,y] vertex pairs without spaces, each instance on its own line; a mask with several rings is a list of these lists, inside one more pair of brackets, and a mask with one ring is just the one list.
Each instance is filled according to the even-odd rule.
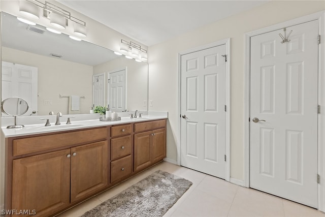
[[[80,113],[89,113],[92,103],[92,66],[2,47],[2,61],[38,68],[38,115],[50,111],[68,114],[69,99],[62,95],[85,96]],[[44,105],[51,100],[52,105]]]

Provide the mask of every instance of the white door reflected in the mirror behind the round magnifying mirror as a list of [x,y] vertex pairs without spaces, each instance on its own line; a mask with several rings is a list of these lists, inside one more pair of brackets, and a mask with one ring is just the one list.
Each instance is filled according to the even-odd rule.
[[2,61],[2,99],[19,97],[28,105],[25,115],[37,111],[38,68]]

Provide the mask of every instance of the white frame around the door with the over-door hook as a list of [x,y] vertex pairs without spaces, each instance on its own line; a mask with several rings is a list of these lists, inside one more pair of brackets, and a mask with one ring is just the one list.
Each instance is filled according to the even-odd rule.
[[[249,154],[250,154],[250,37],[272,32],[284,26],[297,25],[312,20],[318,20],[318,33],[321,37],[318,45],[318,148],[317,148],[317,172],[320,176],[318,183],[318,210],[325,211],[325,11],[317,12],[307,16],[288,20],[282,23],[257,29],[245,34],[245,84],[244,84],[244,187],[249,188]],[[317,39],[315,39],[317,40]],[[315,108],[315,112],[317,108]],[[316,179],[317,177],[315,177]]]

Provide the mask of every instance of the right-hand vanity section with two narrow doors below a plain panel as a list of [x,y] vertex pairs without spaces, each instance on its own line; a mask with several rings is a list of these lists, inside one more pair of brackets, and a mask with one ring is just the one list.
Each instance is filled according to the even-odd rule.
[[166,158],[166,119],[135,123],[134,129],[135,171]]

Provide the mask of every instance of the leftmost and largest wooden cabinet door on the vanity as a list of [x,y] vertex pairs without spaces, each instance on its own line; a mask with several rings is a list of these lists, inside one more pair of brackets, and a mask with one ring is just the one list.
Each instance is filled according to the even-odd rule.
[[[12,209],[49,216],[69,205],[70,149],[13,161]],[[25,215],[19,215],[25,216]]]

